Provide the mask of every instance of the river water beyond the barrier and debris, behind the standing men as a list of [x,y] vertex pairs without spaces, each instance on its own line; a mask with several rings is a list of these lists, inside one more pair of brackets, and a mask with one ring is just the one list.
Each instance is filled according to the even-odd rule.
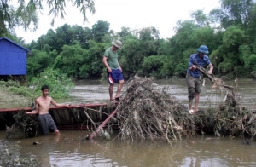
[[[160,86],[167,86],[169,88],[167,93],[175,96],[178,101],[188,106],[188,90],[185,79],[156,80],[155,83]],[[226,85],[234,87],[234,91],[236,95],[239,95],[241,103],[249,107],[254,106],[256,102],[255,83],[256,80],[253,79],[238,79],[236,83],[234,80],[225,81]],[[124,86],[124,90],[125,88],[126,85]],[[116,92],[116,89],[117,86],[114,87],[113,93]],[[73,96],[70,102],[83,101],[85,103],[97,103],[109,101],[107,82],[79,81],[70,93]],[[218,105],[219,102],[224,101],[226,94],[227,89],[212,89],[212,82],[206,79],[205,86],[201,87],[200,107],[214,107],[214,105]]]

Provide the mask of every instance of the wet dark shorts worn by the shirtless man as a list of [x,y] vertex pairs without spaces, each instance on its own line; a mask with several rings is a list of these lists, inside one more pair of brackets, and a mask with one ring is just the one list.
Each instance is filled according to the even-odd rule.
[[49,113],[38,115],[38,122],[43,135],[48,135],[49,132],[52,133],[58,130],[55,121]]

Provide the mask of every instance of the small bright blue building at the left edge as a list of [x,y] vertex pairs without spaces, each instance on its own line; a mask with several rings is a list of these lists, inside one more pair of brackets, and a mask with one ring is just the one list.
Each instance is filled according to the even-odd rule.
[[0,37],[0,75],[26,75],[29,51],[7,37]]

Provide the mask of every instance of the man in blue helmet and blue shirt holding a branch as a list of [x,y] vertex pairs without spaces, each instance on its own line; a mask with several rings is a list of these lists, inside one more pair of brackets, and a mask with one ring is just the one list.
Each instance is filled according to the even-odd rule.
[[[210,66],[210,70],[207,72],[209,75],[212,74],[213,70],[212,63],[209,57],[206,55],[209,53],[207,46],[201,45],[197,51],[197,54],[190,55],[189,57],[189,66],[186,76],[189,90],[189,113],[191,114],[198,112],[199,95],[201,92],[201,71],[197,67]],[[192,107],[194,98],[195,107]]]

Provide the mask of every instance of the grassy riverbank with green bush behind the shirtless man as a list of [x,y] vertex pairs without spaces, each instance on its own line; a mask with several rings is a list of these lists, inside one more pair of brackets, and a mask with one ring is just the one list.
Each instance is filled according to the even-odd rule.
[[73,88],[70,78],[55,72],[46,72],[42,76],[33,78],[27,85],[12,80],[0,81],[0,107],[5,107],[7,104],[9,107],[17,104],[29,107],[42,94],[41,87],[44,84],[49,86],[50,96],[54,99],[69,97],[69,90]]

